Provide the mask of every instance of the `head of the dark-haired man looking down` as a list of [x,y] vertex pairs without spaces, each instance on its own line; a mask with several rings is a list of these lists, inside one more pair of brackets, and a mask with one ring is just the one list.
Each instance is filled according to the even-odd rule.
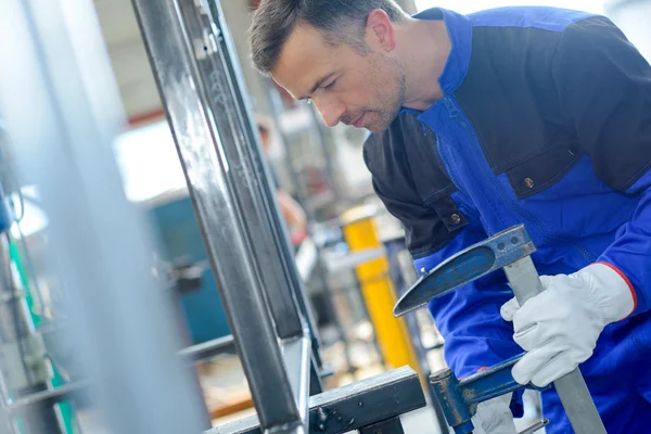
[[381,131],[405,101],[395,30],[409,21],[393,0],[263,0],[251,27],[256,68],[329,126]]

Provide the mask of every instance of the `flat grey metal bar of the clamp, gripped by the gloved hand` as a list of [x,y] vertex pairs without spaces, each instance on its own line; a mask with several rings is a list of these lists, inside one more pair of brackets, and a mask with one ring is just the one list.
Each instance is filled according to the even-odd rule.
[[[542,292],[540,278],[531,256],[515,260],[503,270],[520,306]],[[553,385],[576,434],[605,434],[603,422],[578,368],[554,381]]]

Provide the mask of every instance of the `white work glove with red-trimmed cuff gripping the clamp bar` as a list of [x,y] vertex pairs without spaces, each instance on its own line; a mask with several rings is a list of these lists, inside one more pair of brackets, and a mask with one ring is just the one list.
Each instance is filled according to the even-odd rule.
[[587,360],[603,328],[630,315],[636,302],[627,279],[605,264],[540,282],[545,292],[522,307],[515,298],[507,302],[501,316],[513,321],[513,339],[528,352],[513,367],[513,379],[542,387]]

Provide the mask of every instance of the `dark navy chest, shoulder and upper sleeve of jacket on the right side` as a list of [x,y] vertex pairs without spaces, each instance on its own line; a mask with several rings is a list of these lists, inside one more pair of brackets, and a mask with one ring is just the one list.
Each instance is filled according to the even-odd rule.
[[[603,16],[513,10],[549,14],[537,14],[534,27],[506,25],[527,23],[522,13],[502,27],[475,26],[469,71],[455,92],[490,167],[522,199],[588,154],[601,180],[627,190],[651,161],[649,63]],[[484,14],[480,23],[503,18]],[[563,30],[550,30],[552,21]]]

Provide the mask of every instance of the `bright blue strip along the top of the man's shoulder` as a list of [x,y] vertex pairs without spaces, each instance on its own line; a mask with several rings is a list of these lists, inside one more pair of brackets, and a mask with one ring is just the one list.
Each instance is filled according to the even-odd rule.
[[507,7],[468,15],[473,26],[538,28],[563,31],[571,24],[595,14],[550,7]]

